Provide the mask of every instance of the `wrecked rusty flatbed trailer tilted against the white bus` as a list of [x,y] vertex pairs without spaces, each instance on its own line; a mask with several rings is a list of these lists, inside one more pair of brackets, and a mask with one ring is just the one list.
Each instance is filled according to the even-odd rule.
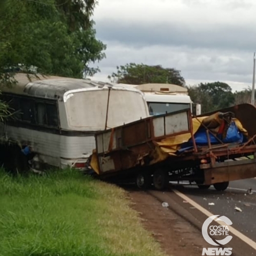
[[[239,118],[248,132],[246,142],[212,145],[212,131],[206,128],[207,146],[196,145],[191,110],[185,109],[98,132],[90,167],[101,179],[131,178],[141,189],[153,185],[157,190],[165,189],[170,181],[225,190],[229,181],[256,177],[256,108],[241,104],[224,110]],[[191,138],[192,149],[180,154],[161,150],[166,147],[161,146],[163,141],[181,135]]]

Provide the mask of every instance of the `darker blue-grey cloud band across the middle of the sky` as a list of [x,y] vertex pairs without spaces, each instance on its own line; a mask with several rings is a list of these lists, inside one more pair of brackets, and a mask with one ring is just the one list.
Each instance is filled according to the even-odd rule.
[[122,24],[109,20],[97,22],[96,31],[103,41],[118,41],[138,48],[148,45],[171,45],[246,51],[256,49],[256,26],[209,25],[196,28],[190,27],[189,24]]

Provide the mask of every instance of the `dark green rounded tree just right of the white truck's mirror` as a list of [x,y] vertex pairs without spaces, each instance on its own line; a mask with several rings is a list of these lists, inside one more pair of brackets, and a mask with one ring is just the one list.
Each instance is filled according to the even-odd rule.
[[202,113],[230,107],[235,104],[235,95],[230,85],[222,82],[201,83],[188,87],[194,103],[202,105]]

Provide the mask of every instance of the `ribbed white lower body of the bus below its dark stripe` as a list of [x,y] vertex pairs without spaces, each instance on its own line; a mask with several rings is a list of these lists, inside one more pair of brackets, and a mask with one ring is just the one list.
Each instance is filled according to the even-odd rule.
[[56,167],[85,162],[95,148],[93,135],[64,136],[28,128],[3,127],[3,125],[0,126],[0,135],[18,141],[21,145],[31,146],[37,153],[36,161]]

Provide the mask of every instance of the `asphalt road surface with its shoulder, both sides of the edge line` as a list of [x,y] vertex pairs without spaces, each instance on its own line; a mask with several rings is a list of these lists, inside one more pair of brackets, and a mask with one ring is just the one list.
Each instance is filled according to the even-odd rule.
[[[249,188],[252,189],[252,194],[247,193]],[[130,190],[129,187],[128,190]],[[197,186],[175,184],[165,192],[149,191],[150,195],[160,202],[167,202],[173,212],[192,223],[201,232],[203,222],[208,216],[175,193],[175,190],[189,197],[213,215],[227,216],[233,222],[232,227],[235,230],[256,242],[256,179],[230,182],[228,189],[224,192],[216,191],[213,186],[208,190],[200,190]],[[209,203],[214,203],[214,205],[209,205]],[[235,207],[240,208],[242,212],[236,211]],[[214,246],[209,245],[209,247]],[[232,256],[256,256],[256,250],[236,235],[233,235],[227,247],[233,248]]]

